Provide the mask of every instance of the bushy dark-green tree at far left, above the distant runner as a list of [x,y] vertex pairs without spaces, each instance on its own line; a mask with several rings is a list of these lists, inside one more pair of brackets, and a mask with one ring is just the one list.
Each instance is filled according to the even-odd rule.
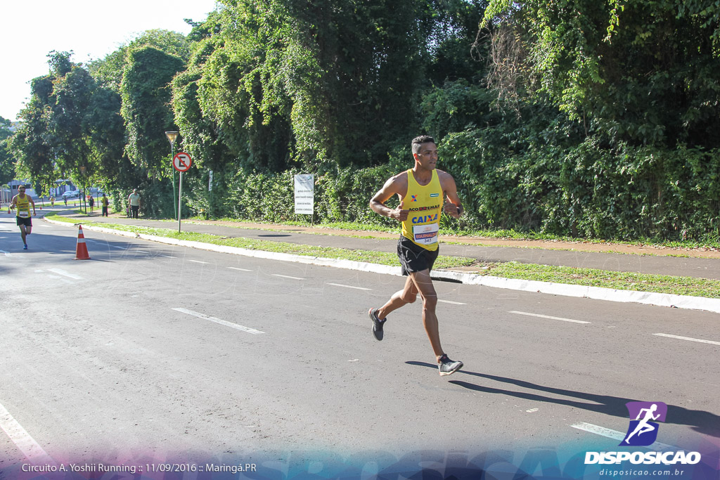
[[48,57],[50,72],[32,81],[12,140],[19,170],[43,186],[68,177],[78,185],[109,185],[124,143],[120,97],[72,63],[71,53]]

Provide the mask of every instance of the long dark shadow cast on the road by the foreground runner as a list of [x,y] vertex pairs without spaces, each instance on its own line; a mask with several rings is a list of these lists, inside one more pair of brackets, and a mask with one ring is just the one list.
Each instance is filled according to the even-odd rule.
[[[433,370],[438,368],[437,365],[433,365],[431,363],[426,363],[426,362],[408,361],[405,363],[408,363],[409,365],[426,366],[426,367],[433,368]],[[562,395],[564,397],[575,397],[576,399],[587,400],[588,402],[594,402],[594,403],[586,403],[586,402],[582,402],[580,400],[573,400],[573,399],[548,397],[545,395],[540,395],[540,394],[526,392],[526,391],[496,389],[496,388],[492,388],[490,386],[482,386],[482,385],[478,385],[478,384],[474,384],[474,383],[470,383],[470,382],[462,381],[462,380],[451,380],[448,383],[455,384],[457,386],[462,386],[469,390],[480,391],[480,392],[487,393],[487,394],[509,395],[511,397],[532,400],[534,402],[547,402],[547,403],[554,403],[554,404],[559,404],[559,405],[567,405],[568,407],[585,409],[590,412],[598,412],[598,413],[603,413],[605,415],[613,415],[613,417],[621,417],[621,418],[628,417],[628,410],[625,406],[625,404],[627,402],[639,402],[639,401],[647,402],[647,401],[649,401],[648,399],[629,399],[629,398],[623,398],[623,397],[612,397],[610,395],[590,394],[590,393],[585,393],[583,391],[558,389],[558,388],[554,388],[552,386],[544,386],[544,385],[534,384],[529,381],[508,379],[507,377],[504,377],[504,376],[488,375],[487,373],[476,373],[476,372],[465,371],[465,370],[461,370],[461,371],[455,373],[455,376],[457,376],[457,375],[477,376],[477,377],[480,377],[483,379],[489,379],[489,380],[493,380],[493,381],[503,382],[505,384],[516,385],[516,386],[522,387],[524,389],[541,391],[541,392],[544,392],[547,394]],[[651,400],[654,400],[654,399],[651,399]],[[662,401],[662,399],[658,399],[658,401]],[[694,430],[698,433],[702,433],[704,435],[710,435],[712,437],[720,438],[720,416],[716,415],[714,413],[705,412],[704,410],[690,410],[690,409],[686,409],[684,407],[677,407],[675,405],[668,404],[667,405],[667,418],[669,420],[671,419],[667,423],[674,423],[677,425],[688,425],[688,427],[690,427],[692,430]]]

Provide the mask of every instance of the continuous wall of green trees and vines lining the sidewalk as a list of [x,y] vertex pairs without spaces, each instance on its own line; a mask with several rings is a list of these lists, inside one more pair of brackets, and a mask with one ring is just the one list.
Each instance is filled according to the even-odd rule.
[[170,216],[179,130],[188,214],[295,219],[302,172],[316,219],[394,225],[367,202],[428,133],[467,207],[446,226],[712,239],[719,20],[711,0],[222,0],[188,37],[51,53],[9,145],[20,172],[82,165]]

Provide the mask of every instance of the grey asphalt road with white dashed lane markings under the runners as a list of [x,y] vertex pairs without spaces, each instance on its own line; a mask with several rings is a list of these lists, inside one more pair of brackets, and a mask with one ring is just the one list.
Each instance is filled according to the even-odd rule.
[[465,366],[440,377],[420,302],[372,338],[395,276],[88,231],[91,260],[73,261],[76,236],[35,220],[24,251],[0,217],[0,472],[608,450],[634,400],[665,402],[657,441],[717,468],[717,314],[441,282]]

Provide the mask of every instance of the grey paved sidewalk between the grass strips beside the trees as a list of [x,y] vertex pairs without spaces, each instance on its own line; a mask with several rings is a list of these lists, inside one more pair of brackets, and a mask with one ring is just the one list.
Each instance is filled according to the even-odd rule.
[[[78,222],[110,222],[124,225],[138,225],[144,227],[159,227],[177,229],[177,222],[161,222],[157,220],[129,219],[127,217],[85,217],[78,214],[63,212],[63,216],[76,218]],[[256,240],[271,240],[277,242],[296,243],[300,245],[317,245],[322,247],[349,248],[355,250],[376,250],[395,252],[397,234],[373,233],[373,236],[382,238],[361,238],[348,236],[348,232],[341,230],[323,229],[327,235],[320,235],[318,228],[298,227],[294,225],[265,225],[263,228],[248,227],[238,222],[236,226],[229,226],[232,222],[197,222],[183,221],[181,229],[184,232],[199,232],[224,237],[246,237]],[[370,232],[357,232],[359,235],[371,235]],[[446,243],[461,241],[461,237],[441,237],[441,255],[454,255],[475,258],[482,262],[518,261],[521,263],[538,263],[551,266],[571,266],[575,268],[598,268],[607,271],[623,271],[635,273],[652,273],[659,275],[690,276],[704,279],[720,280],[720,258],[698,257],[670,257],[657,255],[633,255],[625,253],[600,253],[580,250],[554,250],[554,242],[523,242],[513,241],[517,245],[532,245],[533,248],[523,246],[492,245],[495,240],[463,239],[472,241],[473,245],[455,245]],[[487,244],[490,245],[487,245]],[[536,245],[547,245],[547,248],[537,248]],[[572,244],[570,244],[572,245]],[[577,248],[582,248],[578,244]],[[614,248],[608,245],[607,248]],[[704,255],[715,256],[717,252],[678,251],[670,249],[647,248],[648,252],[674,253],[678,255]],[[455,271],[473,271],[477,269],[455,268]]]

